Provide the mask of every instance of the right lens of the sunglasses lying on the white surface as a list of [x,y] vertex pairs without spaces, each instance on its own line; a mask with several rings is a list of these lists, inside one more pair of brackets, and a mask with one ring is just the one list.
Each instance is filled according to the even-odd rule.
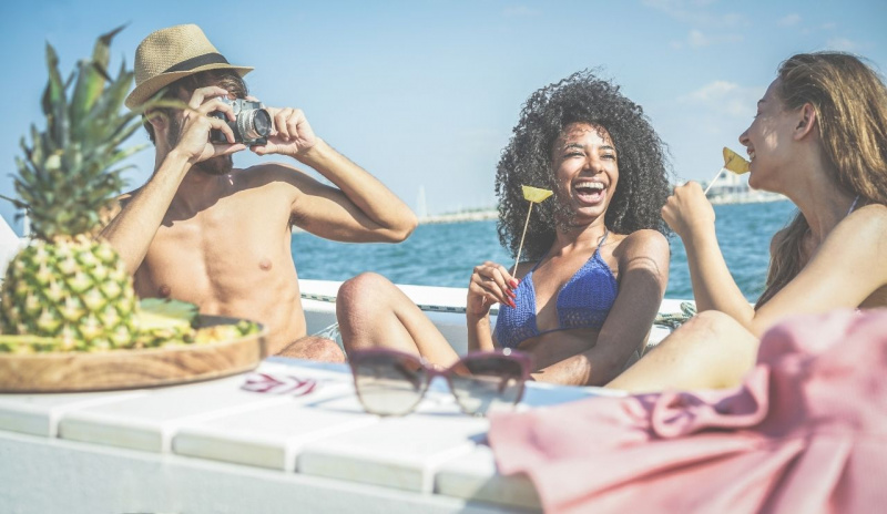
[[465,358],[449,378],[456,399],[469,414],[511,408],[523,394],[523,368],[504,356]]

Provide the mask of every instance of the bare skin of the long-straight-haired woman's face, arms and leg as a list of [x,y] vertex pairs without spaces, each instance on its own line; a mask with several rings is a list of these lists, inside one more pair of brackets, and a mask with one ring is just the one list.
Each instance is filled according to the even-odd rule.
[[[887,206],[854,205],[855,195],[840,187],[824,158],[816,110],[786,109],[777,85],[778,79],[740,143],[752,158],[748,183],[786,195],[809,225],[801,273],[752,308],[721,254],[702,187],[693,182],[676,187],[662,216],[686,247],[701,315],[608,387],[633,392],[733,387],[754,366],[763,333],[785,317],[887,307]],[[782,237],[774,236],[772,248]]]

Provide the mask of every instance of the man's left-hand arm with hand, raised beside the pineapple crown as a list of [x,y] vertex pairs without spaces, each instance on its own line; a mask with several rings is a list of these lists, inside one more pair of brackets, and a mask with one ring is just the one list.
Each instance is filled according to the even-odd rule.
[[220,130],[228,141],[234,141],[231,127],[222,120],[207,116],[214,111],[227,113],[234,119],[230,105],[220,102],[226,95],[222,88],[210,86],[194,91],[188,110],[183,111],[182,133],[174,148],[166,148],[169,120],[154,119],[157,154],[164,155],[147,183],[132,195],[121,198],[121,206],[101,233],[134,274],[147,254],[147,248],[163,222],[163,216],[179,191],[182,179],[191,166],[217,155],[227,155],[245,150],[242,144],[214,145],[210,143],[210,131]]

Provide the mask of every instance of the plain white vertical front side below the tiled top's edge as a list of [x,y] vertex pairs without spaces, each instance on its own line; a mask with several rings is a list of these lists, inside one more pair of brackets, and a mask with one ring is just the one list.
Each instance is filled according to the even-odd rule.
[[493,514],[514,508],[0,431],[3,514]]

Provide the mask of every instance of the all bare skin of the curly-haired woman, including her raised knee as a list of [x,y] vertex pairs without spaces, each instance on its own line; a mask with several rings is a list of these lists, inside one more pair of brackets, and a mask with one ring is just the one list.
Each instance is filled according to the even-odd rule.
[[[616,191],[619,166],[605,130],[584,123],[569,125],[552,148],[552,172],[564,189],[562,202],[574,212],[573,225],[558,232],[548,255],[533,271],[537,327],[558,327],[557,295],[600,246],[600,254],[619,282],[619,294],[600,330],[558,330],[522,341],[518,349],[532,357],[539,381],[585,386],[612,380],[642,353],[669,280],[669,241],[655,230],[610,233],[604,216]],[[578,193],[585,181],[605,184],[603,199]],[[553,199],[552,199],[553,201]],[[533,267],[523,263],[517,277],[502,265],[483,263],[468,287],[468,349],[499,347],[490,327],[490,306],[513,304],[517,278]],[[416,305],[384,277],[364,274],[346,281],[336,315],[348,351],[387,347],[418,352],[431,363],[449,366],[458,356]]]

